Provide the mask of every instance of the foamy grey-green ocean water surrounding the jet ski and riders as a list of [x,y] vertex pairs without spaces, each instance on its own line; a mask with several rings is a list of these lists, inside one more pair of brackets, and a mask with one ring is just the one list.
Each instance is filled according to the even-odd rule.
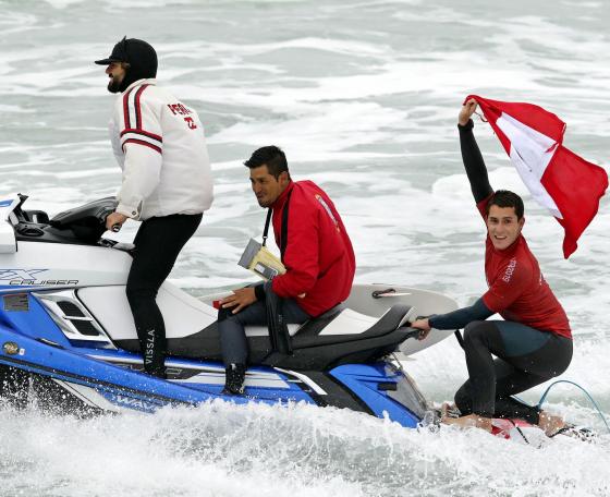
[[[357,281],[468,304],[485,290],[485,229],[461,165],[460,106],[478,94],[546,107],[568,123],[565,145],[609,170],[609,22],[606,2],[575,0],[0,0],[0,194],[26,193],[29,208],[57,214],[115,193],[114,97],[93,60],[139,37],[158,50],[160,83],[199,112],[215,172],[213,207],[173,282],[202,295],[249,280],[236,260],[264,214],[242,162],[272,143],[295,179],[335,202]],[[575,354],[561,378],[608,416],[608,198],[564,260],[561,227],[489,126],[475,128],[492,185],[524,196],[524,233],[571,318]],[[436,402],[466,377],[452,339],[405,367]],[[535,402],[546,386],[523,397]],[[605,431],[571,386],[546,405]],[[608,435],[527,446],[334,409],[222,402],[86,421],[4,409],[0,433],[2,496],[610,495]]]

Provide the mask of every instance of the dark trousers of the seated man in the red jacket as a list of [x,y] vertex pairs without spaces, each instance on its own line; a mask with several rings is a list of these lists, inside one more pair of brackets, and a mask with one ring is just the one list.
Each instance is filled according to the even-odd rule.
[[[285,324],[300,325],[309,319],[310,316],[296,302],[286,299],[283,301],[283,317]],[[265,302],[255,302],[237,314],[231,314],[231,310],[219,310],[218,331],[220,332],[222,360],[225,366],[246,364],[248,347],[244,327],[247,325],[266,324],[267,307]]]

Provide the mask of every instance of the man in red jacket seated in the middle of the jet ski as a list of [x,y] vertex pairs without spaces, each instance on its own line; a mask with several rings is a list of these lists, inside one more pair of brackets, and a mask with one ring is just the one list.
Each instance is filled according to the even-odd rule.
[[[258,204],[273,211],[273,233],[286,268],[266,288],[283,299],[285,324],[305,323],[350,295],[356,267],[352,242],[328,195],[312,181],[291,180],[280,148],[259,148],[244,165]],[[224,393],[244,391],[248,355],[244,326],[267,323],[265,295],[260,283],[234,290],[220,302]]]

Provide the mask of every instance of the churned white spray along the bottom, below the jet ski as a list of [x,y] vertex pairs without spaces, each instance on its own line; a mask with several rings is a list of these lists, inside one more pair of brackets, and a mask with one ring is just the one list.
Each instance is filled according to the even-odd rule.
[[[566,438],[536,449],[477,431],[405,431],[307,405],[216,402],[90,421],[3,411],[0,426],[12,434],[0,448],[5,492],[24,481],[32,482],[33,492],[64,496],[142,495],[144,489],[161,495],[168,488],[185,496],[499,496],[528,487],[539,495],[560,489],[601,495],[608,489],[606,439],[587,450]],[[535,434],[530,438],[536,440]]]

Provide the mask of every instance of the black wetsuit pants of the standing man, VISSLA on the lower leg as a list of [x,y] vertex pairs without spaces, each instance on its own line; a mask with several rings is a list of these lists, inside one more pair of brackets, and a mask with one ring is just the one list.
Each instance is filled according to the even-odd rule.
[[154,217],[142,222],[134,239],[127,300],[139,339],[144,369],[164,376],[166,325],[155,299],[178,254],[202,222],[202,214]]

